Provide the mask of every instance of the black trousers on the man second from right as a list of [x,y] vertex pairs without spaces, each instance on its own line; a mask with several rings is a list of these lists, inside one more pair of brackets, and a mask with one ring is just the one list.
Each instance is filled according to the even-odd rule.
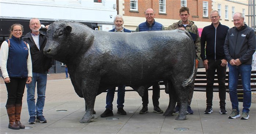
[[217,78],[219,84],[219,105],[226,105],[226,66],[221,66],[221,60],[208,60],[208,70],[206,71],[207,86],[206,86],[206,104],[212,106],[213,84],[215,70],[217,70]]

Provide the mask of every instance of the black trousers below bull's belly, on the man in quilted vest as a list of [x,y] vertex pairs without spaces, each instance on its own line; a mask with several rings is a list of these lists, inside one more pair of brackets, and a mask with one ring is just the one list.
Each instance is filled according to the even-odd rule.
[[[155,83],[153,85],[153,94],[152,94],[152,101],[153,106],[159,106],[159,98],[160,98],[160,85],[159,82]],[[148,105],[148,90],[145,90],[144,95],[142,97],[142,105],[147,106]]]

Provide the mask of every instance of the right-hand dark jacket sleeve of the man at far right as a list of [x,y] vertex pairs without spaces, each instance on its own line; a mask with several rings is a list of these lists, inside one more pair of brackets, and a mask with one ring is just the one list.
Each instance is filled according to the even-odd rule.
[[254,31],[251,30],[248,34],[246,34],[246,38],[248,38],[248,49],[246,53],[244,53],[242,57],[239,58],[241,63],[245,63],[248,60],[250,60],[252,58],[253,53],[255,53],[256,38]]

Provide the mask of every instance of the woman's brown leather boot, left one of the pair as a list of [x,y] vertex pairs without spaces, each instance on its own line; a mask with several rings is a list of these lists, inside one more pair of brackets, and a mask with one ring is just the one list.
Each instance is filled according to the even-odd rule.
[[20,126],[15,123],[15,105],[5,105],[7,114],[9,117],[9,125],[8,128],[10,129],[20,129]]

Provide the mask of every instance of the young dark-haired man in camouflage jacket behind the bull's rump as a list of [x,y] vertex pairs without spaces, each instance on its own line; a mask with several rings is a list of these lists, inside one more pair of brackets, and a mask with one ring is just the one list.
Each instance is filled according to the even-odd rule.
[[[194,24],[193,21],[188,20],[189,17],[189,8],[188,7],[181,7],[180,8],[180,18],[181,20],[173,23],[169,27],[167,27],[165,30],[174,30],[174,29],[181,29],[186,30],[189,32],[189,34],[192,36],[193,41],[195,43],[195,49],[196,49],[196,69],[195,69],[195,75],[193,83],[188,86],[189,88],[189,94],[188,94],[188,114],[194,114],[194,111],[191,109],[190,104],[193,97],[194,92],[194,83],[197,73],[197,65],[200,60],[200,37],[198,34],[197,26]],[[177,105],[175,107],[175,113],[178,113],[180,111],[180,100],[177,100]]]

